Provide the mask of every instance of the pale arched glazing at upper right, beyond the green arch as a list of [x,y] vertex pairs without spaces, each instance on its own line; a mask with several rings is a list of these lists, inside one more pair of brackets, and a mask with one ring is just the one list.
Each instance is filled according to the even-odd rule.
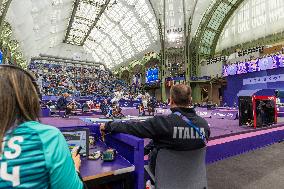
[[247,0],[227,22],[217,50],[283,31],[284,0]]

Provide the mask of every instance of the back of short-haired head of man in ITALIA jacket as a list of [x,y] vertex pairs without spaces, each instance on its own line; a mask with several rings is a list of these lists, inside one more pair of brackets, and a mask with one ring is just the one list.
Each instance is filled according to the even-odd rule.
[[191,103],[191,88],[178,84],[171,88],[171,98],[177,106],[189,106]]

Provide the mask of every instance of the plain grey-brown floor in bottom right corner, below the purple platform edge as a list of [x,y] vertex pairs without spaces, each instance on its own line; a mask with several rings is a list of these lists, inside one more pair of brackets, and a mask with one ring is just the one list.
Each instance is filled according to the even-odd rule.
[[284,188],[284,142],[207,166],[209,189]]

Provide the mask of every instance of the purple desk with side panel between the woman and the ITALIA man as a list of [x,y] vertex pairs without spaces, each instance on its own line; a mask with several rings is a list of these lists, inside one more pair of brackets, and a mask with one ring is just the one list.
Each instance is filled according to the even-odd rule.
[[[87,120],[86,120],[87,121]],[[90,121],[90,120],[89,120]],[[94,120],[93,120],[94,121]],[[99,124],[86,126],[57,126],[61,131],[88,129],[90,136],[100,138]],[[107,120],[105,120],[107,121]],[[91,121],[90,121],[91,122]],[[89,188],[100,184],[121,182],[124,188],[143,189],[144,187],[144,140],[127,134],[113,134],[105,137],[105,143],[96,140],[95,148],[90,146],[90,154],[95,151],[115,149],[118,153],[112,162],[101,159],[82,158],[81,175]],[[117,182],[118,181],[118,182]]]

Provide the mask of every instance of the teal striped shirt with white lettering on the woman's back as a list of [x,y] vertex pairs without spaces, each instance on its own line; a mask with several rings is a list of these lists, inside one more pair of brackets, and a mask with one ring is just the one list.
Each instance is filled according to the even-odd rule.
[[68,145],[57,128],[25,122],[6,134],[3,146],[1,189],[83,188]]

